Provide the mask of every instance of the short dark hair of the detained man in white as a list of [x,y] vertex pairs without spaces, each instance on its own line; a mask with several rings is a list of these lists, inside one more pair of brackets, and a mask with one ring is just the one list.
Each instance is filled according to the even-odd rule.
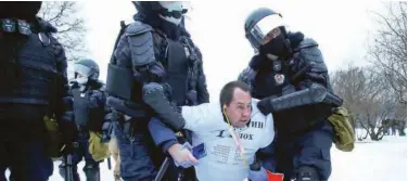
[[231,104],[233,99],[233,91],[235,90],[235,88],[239,88],[244,92],[248,92],[251,94],[251,88],[246,83],[239,80],[230,81],[226,86],[224,86],[221,93],[219,94],[219,103],[221,104],[221,106],[228,106],[229,104]]

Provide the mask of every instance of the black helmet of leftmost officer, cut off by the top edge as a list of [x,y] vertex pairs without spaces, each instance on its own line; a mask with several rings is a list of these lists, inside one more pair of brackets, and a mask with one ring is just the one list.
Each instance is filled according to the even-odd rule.
[[0,2],[0,18],[15,17],[34,20],[41,9],[42,1],[4,1]]

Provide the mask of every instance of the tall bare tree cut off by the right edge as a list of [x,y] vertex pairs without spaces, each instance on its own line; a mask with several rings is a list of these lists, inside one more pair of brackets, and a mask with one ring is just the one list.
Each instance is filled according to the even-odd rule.
[[386,12],[375,13],[380,25],[369,46],[370,62],[401,104],[407,105],[407,2],[384,2]]

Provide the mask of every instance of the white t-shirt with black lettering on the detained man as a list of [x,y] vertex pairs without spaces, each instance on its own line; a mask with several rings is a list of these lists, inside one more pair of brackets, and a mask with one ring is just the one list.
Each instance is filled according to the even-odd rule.
[[200,181],[242,181],[247,178],[255,153],[269,145],[275,137],[272,116],[264,116],[256,106],[257,102],[252,100],[248,126],[234,129],[245,150],[245,163],[228,131],[229,125],[224,120],[219,103],[182,107],[184,128],[193,132],[193,146],[204,143],[207,151],[207,156],[195,166]]

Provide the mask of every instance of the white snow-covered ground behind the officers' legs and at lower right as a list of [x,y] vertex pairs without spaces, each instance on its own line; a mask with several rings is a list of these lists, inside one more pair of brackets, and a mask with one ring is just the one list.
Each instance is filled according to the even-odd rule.
[[[406,181],[407,138],[388,135],[380,142],[357,142],[350,153],[341,152],[333,145],[332,164],[330,181]],[[54,174],[50,181],[63,181],[58,173],[59,165],[60,161],[54,163]],[[82,167],[84,161],[79,164],[79,170],[81,180],[86,180]],[[101,165],[101,180],[113,181],[106,161]]]

